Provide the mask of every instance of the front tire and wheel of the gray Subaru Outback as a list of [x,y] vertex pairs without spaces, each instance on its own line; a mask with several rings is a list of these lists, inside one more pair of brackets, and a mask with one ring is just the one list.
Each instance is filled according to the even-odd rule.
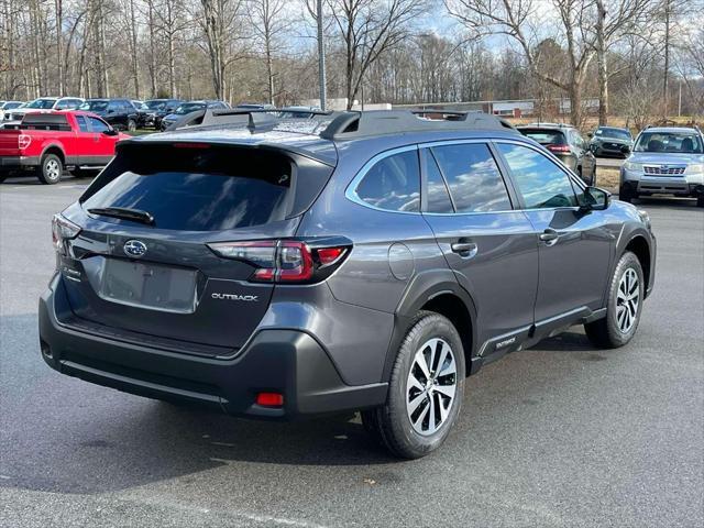
[[617,349],[632,339],[642,312],[645,284],[640,261],[627,251],[612,276],[606,317],[584,324],[592,344],[601,349]]

